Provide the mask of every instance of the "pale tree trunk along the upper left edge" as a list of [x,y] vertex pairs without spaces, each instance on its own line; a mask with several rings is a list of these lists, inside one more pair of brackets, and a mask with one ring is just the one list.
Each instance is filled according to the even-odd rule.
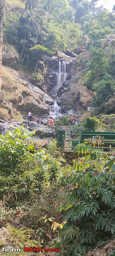
[[0,0],[0,91],[2,87],[2,45],[3,45],[3,28],[4,28],[4,0]]

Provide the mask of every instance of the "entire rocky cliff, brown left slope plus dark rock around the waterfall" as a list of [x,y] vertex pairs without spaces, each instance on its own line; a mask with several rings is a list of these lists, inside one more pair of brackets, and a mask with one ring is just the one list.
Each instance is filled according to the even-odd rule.
[[[7,48],[4,49],[4,52],[4,56],[6,56]],[[43,59],[48,62],[48,67],[45,68],[44,63],[39,62],[42,73],[44,73],[44,81],[41,84],[32,84],[23,74],[12,68],[3,67],[0,114],[12,120],[22,121],[27,119],[28,111],[31,110],[35,116],[40,115],[47,118],[49,106],[53,105],[53,88],[57,84],[59,61],[66,62],[67,72],[66,80],[58,89],[56,96],[62,113],[67,113],[67,111],[78,113],[86,109],[90,103],[92,92],[88,91],[82,84],[88,68],[87,62],[91,55],[90,52],[85,51],[79,56],[69,49],[67,52],[74,58],[60,51],[53,57],[43,55]]]

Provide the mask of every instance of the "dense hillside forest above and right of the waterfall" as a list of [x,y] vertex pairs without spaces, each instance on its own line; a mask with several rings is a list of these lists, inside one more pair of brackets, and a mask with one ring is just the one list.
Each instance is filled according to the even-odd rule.
[[20,7],[7,9],[4,28],[4,44],[15,46],[20,64],[40,82],[42,75],[36,65],[38,59],[43,60],[43,53],[85,47],[92,58],[88,61],[84,85],[95,92],[91,100],[95,115],[114,113],[114,8],[113,12],[97,8],[95,0],[20,2],[23,3]]

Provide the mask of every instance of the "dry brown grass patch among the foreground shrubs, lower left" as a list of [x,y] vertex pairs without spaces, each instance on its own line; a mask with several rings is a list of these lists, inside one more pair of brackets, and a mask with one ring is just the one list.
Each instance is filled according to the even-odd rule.
[[[41,228],[46,234],[48,244],[54,239],[57,234],[51,230],[52,222],[47,220],[44,223],[43,217],[47,214],[48,218],[54,218],[54,221],[61,223],[63,218],[62,213],[56,212],[56,209],[64,201],[62,195],[65,194],[65,189],[48,187],[43,188],[41,195],[38,194],[38,198],[34,200],[33,205],[28,210],[24,210],[21,207],[15,211],[9,209],[9,205],[3,201],[0,202],[0,209],[4,209],[4,216],[2,216],[1,224],[10,224],[15,228],[23,227],[33,228],[35,231]],[[60,199],[59,199],[60,198]]]

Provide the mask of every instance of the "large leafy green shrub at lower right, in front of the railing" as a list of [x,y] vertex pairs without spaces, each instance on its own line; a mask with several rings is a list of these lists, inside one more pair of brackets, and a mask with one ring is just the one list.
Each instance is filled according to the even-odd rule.
[[83,255],[115,234],[115,157],[93,151],[87,143],[83,148],[91,148],[91,153],[74,160],[71,181],[65,173],[72,190],[57,209],[65,212],[65,224],[54,243],[58,240],[57,246],[63,246],[66,255]]

